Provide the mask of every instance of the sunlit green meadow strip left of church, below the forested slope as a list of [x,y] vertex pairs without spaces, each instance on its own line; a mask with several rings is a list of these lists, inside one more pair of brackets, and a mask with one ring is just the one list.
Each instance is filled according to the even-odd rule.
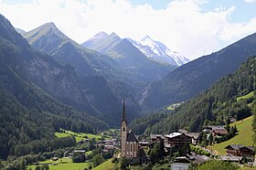
[[77,142],[80,142],[86,138],[89,138],[89,139],[92,139],[92,138],[95,138],[96,141],[98,141],[99,139],[101,139],[101,135],[100,134],[91,134],[91,133],[74,133],[74,132],[71,132],[71,131],[67,131],[67,130],[63,130],[65,131],[65,133],[55,133],[55,135],[59,138],[61,137],[67,137],[67,136],[70,136],[70,135],[73,135],[75,136],[76,138],[76,141]]

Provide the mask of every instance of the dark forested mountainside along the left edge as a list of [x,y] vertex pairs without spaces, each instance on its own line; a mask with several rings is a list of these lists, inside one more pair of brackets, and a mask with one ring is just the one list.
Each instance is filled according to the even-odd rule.
[[55,137],[59,128],[88,133],[107,128],[105,122],[56,101],[38,81],[62,91],[64,99],[69,92],[81,97],[73,69],[33,51],[0,16],[0,159],[74,145],[73,138]]

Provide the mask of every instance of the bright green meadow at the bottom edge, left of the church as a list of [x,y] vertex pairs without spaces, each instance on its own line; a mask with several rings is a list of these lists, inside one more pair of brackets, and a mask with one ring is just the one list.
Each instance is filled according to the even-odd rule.
[[[58,163],[58,165],[52,165],[53,163]],[[89,167],[91,163],[72,163],[72,160],[69,158],[60,158],[58,161],[46,160],[40,162],[39,165],[48,164],[50,170],[82,170],[85,167]],[[28,165],[27,169],[35,169],[36,165]]]

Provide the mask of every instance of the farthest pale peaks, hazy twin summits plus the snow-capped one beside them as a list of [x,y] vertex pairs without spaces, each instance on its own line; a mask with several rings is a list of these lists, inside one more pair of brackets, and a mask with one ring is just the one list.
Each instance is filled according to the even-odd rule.
[[[162,64],[169,64],[171,66],[181,66],[189,62],[189,59],[171,51],[163,43],[153,40],[146,36],[141,41],[135,41],[132,38],[125,38],[129,40],[135,48],[138,48],[147,58],[154,59],[156,62]],[[118,37],[115,33],[108,35],[105,32],[100,32],[94,37],[81,44],[86,48],[91,48],[103,54],[110,54],[112,57],[121,58],[121,56],[112,55],[112,48],[121,43],[123,38]]]

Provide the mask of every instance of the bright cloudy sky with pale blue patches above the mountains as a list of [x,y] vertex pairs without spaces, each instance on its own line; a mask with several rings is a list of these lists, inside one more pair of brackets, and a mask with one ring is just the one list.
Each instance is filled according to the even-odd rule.
[[54,22],[80,44],[149,35],[190,59],[256,32],[256,0],[0,0],[0,14],[25,31]]

